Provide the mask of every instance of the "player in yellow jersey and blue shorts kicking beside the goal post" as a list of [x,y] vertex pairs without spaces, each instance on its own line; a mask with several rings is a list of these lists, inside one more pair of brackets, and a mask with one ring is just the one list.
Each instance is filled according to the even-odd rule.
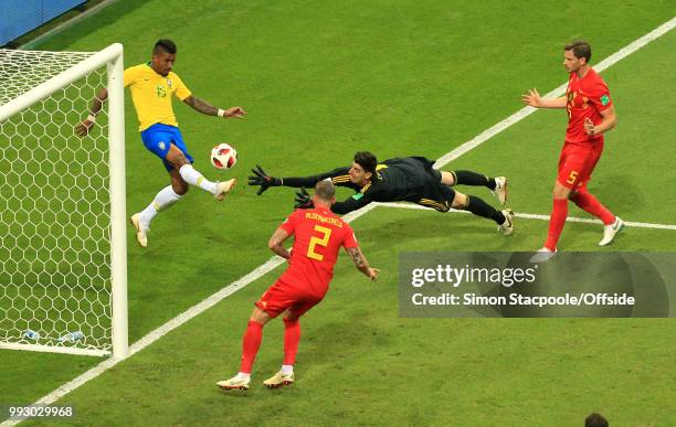
[[[193,159],[188,153],[173,115],[171,95],[208,116],[242,118],[246,113],[242,107],[220,109],[193,96],[183,81],[171,71],[176,62],[176,44],[171,40],[160,40],[152,50],[152,61],[131,66],[125,70],[124,74],[125,87],[129,87],[138,116],[141,140],[150,152],[162,160],[171,179],[171,185],[157,193],[155,200],[144,211],[131,215],[136,238],[142,247],[148,245],[148,231],[155,215],[179,201],[188,192],[189,184],[212,193],[221,201],[236,183],[234,179],[212,182],[194,170]],[[76,131],[80,136],[89,132],[96,115],[107,98],[107,89],[99,89],[92,102],[89,116],[77,125]]]

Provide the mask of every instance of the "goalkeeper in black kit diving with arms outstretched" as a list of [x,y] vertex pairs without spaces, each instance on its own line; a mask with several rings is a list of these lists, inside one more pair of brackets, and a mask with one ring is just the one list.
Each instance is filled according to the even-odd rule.
[[389,159],[379,163],[376,156],[368,151],[355,154],[351,167],[334,169],[330,172],[305,178],[275,178],[256,166],[249,185],[258,185],[261,195],[271,186],[302,188],[297,193],[296,207],[310,207],[311,201],[305,188],[313,188],[323,180],[330,180],[337,186],[355,190],[355,194],[342,202],[336,202],[331,211],[344,215],[371,202],[411,202],[431,207],[439,212],[448,212],[452,207],[469,211],[475,215],[495,221],[498,229],[505,235],[511,234],[513,215],[510,210],[498,211],[482,199],[463,194],[452,186],[486,186],[498,198],[501,205],[507,202],[507,179],[505,177],[487,178],[472,171],[437,171],[434,161],[424,157]]

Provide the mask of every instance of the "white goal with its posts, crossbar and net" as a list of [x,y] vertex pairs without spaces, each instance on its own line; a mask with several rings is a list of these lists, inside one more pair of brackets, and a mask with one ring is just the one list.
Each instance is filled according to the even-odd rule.
[[119,43],[0,50],[0,349],[127,354],[123,72]]

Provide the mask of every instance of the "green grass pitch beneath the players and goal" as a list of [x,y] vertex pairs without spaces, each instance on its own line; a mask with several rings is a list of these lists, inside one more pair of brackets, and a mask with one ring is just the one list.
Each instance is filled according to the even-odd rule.
[[[363,149],[380,159],[440,157],[521,108],[526,89],[563,83],[570,40],[589,40],[596,63],[673,15],[669,1],[125,0],[38,47],[123,42],[129,66],[148,61],[157,39],[173,39],[175,71],[196,96],[249,111],[223,121],[175,102],[196,168],[244,183],[256,163],[304,175]],[[602,73],[619,126],[590,190],[624,220],[675,223],[675,61],[672,32]],[[168,178],[140,142],[128,96],[126,116],[131,214]],[[548,214],[566,120],[538,111],[444,169],[506,174],[513,209]],[[208,162],[221,141],[240,154],[229,172]],[[494,203],[483,189],[467,192]],[[241,185],[224,204],[192,189],[155,220],[147,249],[129,229],[130,342],[267,260],[267,238],[292,206],[291,189],[256,196]],[[339,260],[326,300],[304,318],[293,387],[258,384],[281,363],[279,321],[265,329],[252,389],[214,386],[236,372],[252,302],[276,269],[62,398],[76,409],[70,423],[571,426],[601,412],[617,426],[676,424],[672,319],[398,317],[400,252],[532,250],[547,222],[518,220],[504,238],[468,215],[377,207],[352,225],[381,280]],[[560,246],[598,250],[600,234],[599,225],[569,223]],[[629,228],[612,249],[676,252],[675,237]],[[0,404],[30,404],[101,362],[17,351],[0,351]]]

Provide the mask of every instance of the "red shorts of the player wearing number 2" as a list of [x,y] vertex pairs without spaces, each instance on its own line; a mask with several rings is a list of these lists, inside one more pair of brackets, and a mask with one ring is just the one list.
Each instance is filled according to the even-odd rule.
[[267,288],[265,293],[254,303],[257,308],[276,318],[287,309],[294,317],[300,317],[307,310],[318,305],[324,295],[313,295],[297,286],[289,286],[284,281],[277,280]]

